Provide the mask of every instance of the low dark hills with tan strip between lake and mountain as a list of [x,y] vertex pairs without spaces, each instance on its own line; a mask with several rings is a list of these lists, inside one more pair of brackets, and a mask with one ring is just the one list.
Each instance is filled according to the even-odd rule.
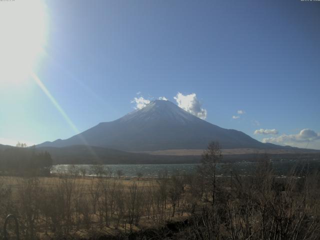
[[[1,145],[0,153],[14,146]],[[297,148],[299,149],[299,148]],[[72,145],[65,147],[36,147],[37,152],[50,153],[53,164],[152,164],[152,163],[197,163],[200,161],[201,149],[172,149],[150,152],[125,152],[121,150],[88,146]],[[301,149],[262,149],[231,148],[222,149],[224,161],[256,161],[265,158],[280,159],[319,159],[319,150]],[[1,154],[0,154],[1,158]]]

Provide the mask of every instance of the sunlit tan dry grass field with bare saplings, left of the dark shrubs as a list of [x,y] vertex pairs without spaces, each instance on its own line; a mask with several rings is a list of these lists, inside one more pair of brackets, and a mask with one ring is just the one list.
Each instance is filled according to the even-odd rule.
[[118,236],[188,215],[181,199],[172,214],[169,178],[1,176],[0,184],[1,216],[18,217],[22,239]]

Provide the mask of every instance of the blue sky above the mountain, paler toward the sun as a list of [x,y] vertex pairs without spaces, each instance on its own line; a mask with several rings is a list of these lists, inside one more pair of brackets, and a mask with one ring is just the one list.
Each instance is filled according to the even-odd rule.
[[2,75],[0,143],[67,138],[133,110],[134,97],[176,102],[180,92],[195,93],[213,124],[320,149],[320,2],[36,4],[46,19],[32,65],[42,88],[32,75]]

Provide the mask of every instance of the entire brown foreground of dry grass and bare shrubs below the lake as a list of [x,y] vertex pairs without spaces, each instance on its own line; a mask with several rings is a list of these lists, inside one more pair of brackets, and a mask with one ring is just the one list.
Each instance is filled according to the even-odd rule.
[[301,174],[276,178],[269,163],[261,163],[250,176],[234,173],[213,182],[199,173],[139,179],[2,176],[0,224],[13,213],[20,239],[32,240],[316,240],[319,173]]

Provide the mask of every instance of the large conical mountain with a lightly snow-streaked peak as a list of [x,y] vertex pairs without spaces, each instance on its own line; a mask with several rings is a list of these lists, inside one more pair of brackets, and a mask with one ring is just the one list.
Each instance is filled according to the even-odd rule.
[[101,122],[68,139],[38,146],[63,147],[87,144],[125,151],[203,149],[217,140],[222,148],[274,148],[241,131],[225,129],[204,121],[165,100],[155,100],[123,117]]

